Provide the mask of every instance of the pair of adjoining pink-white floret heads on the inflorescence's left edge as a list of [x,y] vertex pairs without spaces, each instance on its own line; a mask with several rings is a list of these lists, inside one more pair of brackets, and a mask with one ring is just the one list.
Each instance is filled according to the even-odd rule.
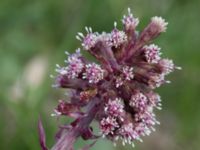
[[[66,52],[67,55],[69,55]],[[104,70],[100,65],[96,63],[84,63],[84,58],[80,54],[80,49],[76,50],[75,54],[69,55],[65,61],[68,66],[60,67],[56,65],[56,72],[59,73],[57,79],[87,79],[89,83],[98,83],[104,78]],[[54,85],[57,87],[64,87],[65,84],[61,84],[61,80]]]

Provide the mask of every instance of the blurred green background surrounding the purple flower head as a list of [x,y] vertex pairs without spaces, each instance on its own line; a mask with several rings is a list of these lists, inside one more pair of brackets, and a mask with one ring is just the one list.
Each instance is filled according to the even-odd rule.
[[[50,114],[64,91],[51,88],[49,75],[56,63],[63,64],[64,51],[80,46],[78,31],[110,31],[114,21],[120,27],[128,7],[140,18],[140,30],[155,15],[169,21],[156,43],[183,68],[168,77],[172,84],[158,89],[161,125],[135,150],[199,150],[199,6],[198,0],[0,0],[0,150],[40,149],[39,114],[53,145],[57,123]],[[132,148],[99,140],[92,149]]]

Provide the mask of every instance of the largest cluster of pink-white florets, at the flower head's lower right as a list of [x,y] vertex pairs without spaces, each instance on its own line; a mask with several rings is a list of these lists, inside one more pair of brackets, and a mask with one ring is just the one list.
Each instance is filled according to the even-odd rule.
[[132,144],[133,141],[142,141],[141,136],[149,135],[154,131],[154,125],[159,124],[153,113],[153,108],[160,109],[160,97],[155,93],[147,96],[137,91],[129,100],[129,108],[134,110],[131,118],[127,117],[123,100],[116,98],[109,100],[105,105],[105,117],[100,122],[103,137],[112,138],[114,142],[121,139],[122,144]]

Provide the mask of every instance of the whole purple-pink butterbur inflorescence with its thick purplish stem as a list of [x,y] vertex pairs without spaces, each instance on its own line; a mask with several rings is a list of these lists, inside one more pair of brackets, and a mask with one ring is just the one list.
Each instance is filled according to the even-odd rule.
[[[86,27],[86,35],[76,38],[98,63],[83,57],[80,48],[69,54],[66,66],[57,65],[55,87],[70,89],[69,100],[60,100],[54,116],[72,117],[57,134],[52,150],[72,150],[78,137],[84,140],[107,138],[113,143],[132,144],[149,135],[159,124],[154,108],[161,109],[160,96],[154,89],[164,83],[176,67],[172,60],[161,58],[161,48],[152,40],[166,31],[167,22],[153,17],[142,32],[136,30],[139,19],[128,9],[122,19],[123,30],[97,33]],[[91,122],[99,123],[99,134]],[[40,126],[41,127],[41,126]],[[44,141],[43,149],[44,149]],[[83,149],[89,149],[87,145]]]

